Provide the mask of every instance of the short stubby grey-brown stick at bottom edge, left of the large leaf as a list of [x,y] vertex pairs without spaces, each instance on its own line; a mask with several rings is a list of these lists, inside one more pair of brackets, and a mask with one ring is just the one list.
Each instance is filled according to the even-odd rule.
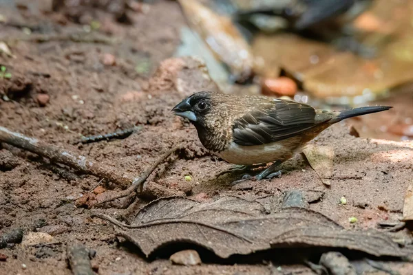
[[74,275],[94,275],[89,257],[89,250],[81,244],[67,248],[67,260]]

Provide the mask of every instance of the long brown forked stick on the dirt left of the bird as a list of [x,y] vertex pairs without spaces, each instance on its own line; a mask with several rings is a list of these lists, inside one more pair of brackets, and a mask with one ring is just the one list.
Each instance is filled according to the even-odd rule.
[[[67,151],[64,148],[59,148],[58,146],[42,142],[41,140],[27,137],[21,133],[12,132],[2,126],[0,126],[0,142],[6,142],[12,146],[41,155],[42,157],[47,157],[53,162],[60,162],[61,164],[80,170],[83,173],[107,179],[108,181],[112,181],[114,184],[120,186],[120,188],[126,188],[127,186],[133,184],[129,189],[125,190],[132,190],[130,192],[136,190],[137,186],[142,184],[142,182],[149,177],[152,171],[160,164],[160,162],[162,162],[163,159],[177,150],[177,148],[173,148],[167,153],[166,156],[164,155],[158,160],[158,162],[151,166],[151,168],[149,168],[149,170],[147,170],[142,176],[136,177],[129,173],[120,173],[120,171],[115,167],[94,162],[92,159],[87,159],[87,157],[84,157],[83,155],[78,155]],[[167,190],[167,188],[164,188],[159,184],[151,184],[148,187],[153,188],[153,192],[156,194],[162,194],[162,192],[165,192],[166,195],[170,195],[171,193],[170,190]],[[145,192],[151,193],[152,190],[148,188]]]

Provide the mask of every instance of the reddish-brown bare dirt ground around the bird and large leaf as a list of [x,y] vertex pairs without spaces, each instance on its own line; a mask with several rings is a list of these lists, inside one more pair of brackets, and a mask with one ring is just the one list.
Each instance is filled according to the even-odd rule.
[[[405,191],[413,179],[413,142],[370,139],[383,137],[380,131],[368,135],[363,130],[363,122],[374,122],[374,115],[332,126],[315,139],[315,144],[329,146],[335,154],[330,186],[322,184],[301,155],[284,164],[288,173],[281,178],[235,187],[230,185],[232,176],[217,179],[215,175],[230,165],[204,149],[193,126],[170,112],[184,96],[214,84],[196,59],[165,61],[156,71],[180,44],[184,19],[176,1],[137,5],[135,12],[115,4],[52,12],[50,1],[17,3],[0,1],[0,14],[8,19],[1,25],[0,41],[8,41],[15,56],[0,57],[12,74],[0,79],[0,126],[135,175],[180,145],[184,151],[161,164],[149,181],[182,190],[198,201],[237,195],[259,201],[271,212],[288,190],[318,191],[320,197],[310,203],[310,210],[349,230],[374,229],[381,221],[397,222],[402,217]],[[96,22],[98,30],[93,30]],[[411,94],[406,97],[399,104],[412,100]],[[394,108],[386,115],[400,112]],[[350,135],[350,124],[361,137]],[[142,129],[122,140],[74,144],[81,135],[132,126]],[[231,262],[200,253],[204,263],[193,267],[171,264],[171,253],[145,259],[115,236],[112,225],[75,206],[76,199],[98,184],[97,177],[50,164],[8,144],[0,146],[0,164],[0,236],[14,228],[52,235],[51,245],[16,244],[0,250],[7,256],[0,261],[1,275],[71,274],[66,247],[75,242],[96,251],[92,265],[98,274],[315,274],[306,265],[279,263],[271,254]],[[340,203],[341,197],[346,197],[346,205]],[[126,209],[100,211],[127,221],[148,202],[137,199]],[[350,217],[357,217],[357,223],[350,223]],[[412,245],[407,229],[390,235]],[[412,263],[385,264],[400,274],[413,272]]]

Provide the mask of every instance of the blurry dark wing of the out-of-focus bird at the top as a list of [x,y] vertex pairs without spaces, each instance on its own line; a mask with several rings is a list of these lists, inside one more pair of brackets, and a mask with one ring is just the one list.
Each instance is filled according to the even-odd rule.
[[305,0],[305,2],[308,8],[295,22],[297,30],[304,30],[310,25],[335,17],[354,4],[354,0]]

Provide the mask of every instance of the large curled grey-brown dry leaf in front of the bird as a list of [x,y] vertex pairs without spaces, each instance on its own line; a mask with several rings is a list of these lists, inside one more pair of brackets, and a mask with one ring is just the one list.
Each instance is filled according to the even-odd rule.
[[222,197],[198,203],[181,197],[159,199],[140,210],[132,225],[95,214],[118,225],[117,234],[150,256],[158,248],[194,243],[222,258],[271,248],[348,248],[374,256],[403,256],[388,236],[344,230],[324,215],[305,208],[264,214],[259,203]]

